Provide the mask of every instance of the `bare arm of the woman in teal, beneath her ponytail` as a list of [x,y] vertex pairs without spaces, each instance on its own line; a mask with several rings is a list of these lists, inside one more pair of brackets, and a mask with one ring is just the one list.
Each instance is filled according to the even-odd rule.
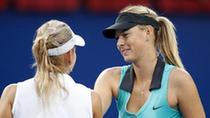
[[196,85],[186,71],[176,73],[176,96],[184,118],[205,118],[205,112]]

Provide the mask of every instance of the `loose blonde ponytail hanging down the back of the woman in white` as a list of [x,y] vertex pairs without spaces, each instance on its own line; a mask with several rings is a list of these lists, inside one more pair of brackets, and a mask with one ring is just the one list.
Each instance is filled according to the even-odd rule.
[[55,78],[56,75],[52,76],[55,74],[53,71],[59,69],[55,69],[56,67],[50,62],[44,40],[39,40],[37,44],[33,45],[32,50],[36,60],[34,66],[37,68],[35,75],[36,91],[42,103],[48,105],[48,100],[53,96],[52,93],[56,94],[57,90],[54,91],[54,89],[63,88],[59,80]]

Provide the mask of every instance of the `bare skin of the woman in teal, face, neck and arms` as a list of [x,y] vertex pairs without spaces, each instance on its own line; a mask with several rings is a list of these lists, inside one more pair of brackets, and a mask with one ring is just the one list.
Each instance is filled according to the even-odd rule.
[[[134,67],[136,79],[127,104],[129,112],[137,112],[150,95],[149,87],[157,62],[152,26],[135,26],[124,32],[116,32],[117,48],[124,60]],[[94,90],[100,95],[102,112],[106,113],[112,97],[117,99],[121,69],[105,69],[97,78]],[[144,92],[140,95],[140,92]],[[184,118],[205,118],[205,112],[192,77],[183,69],[175,67],[169,76],[168,104],[179,107]],[[190,107],[192,106],[193,107]]]

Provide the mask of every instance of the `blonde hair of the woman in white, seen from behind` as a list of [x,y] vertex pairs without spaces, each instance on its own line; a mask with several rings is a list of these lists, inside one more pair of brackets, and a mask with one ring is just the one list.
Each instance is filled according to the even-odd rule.
[[[72,30],[67,24],[51,20],[38,28],[32,46],[36,67],[36,91],[44,104],[59,90],[66,91],[58,79],[58,73],[69,71],[70,64],[65,59],[66,54],[48,56],[48,49],[59,47],[72,37]],[[67,92],[67,91],[66,91]]]

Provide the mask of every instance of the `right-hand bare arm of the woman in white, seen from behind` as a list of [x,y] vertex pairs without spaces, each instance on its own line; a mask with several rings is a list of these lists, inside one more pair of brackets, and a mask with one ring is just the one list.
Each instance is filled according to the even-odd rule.
[[101,105],[100,96],[95,92],[91,92],[91,98],[92,98],[93,118],[102,118],[102,105]]

